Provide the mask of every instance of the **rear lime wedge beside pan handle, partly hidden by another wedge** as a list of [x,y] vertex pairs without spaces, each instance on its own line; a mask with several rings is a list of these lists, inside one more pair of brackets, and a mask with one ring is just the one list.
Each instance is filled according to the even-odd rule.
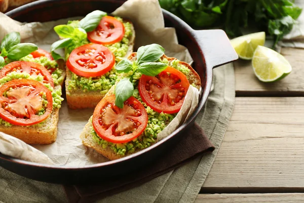
[[265,32],[256,32],[244,35],[230,41],[240,58],[245,60],[252,59],[257,46],[265,43]]

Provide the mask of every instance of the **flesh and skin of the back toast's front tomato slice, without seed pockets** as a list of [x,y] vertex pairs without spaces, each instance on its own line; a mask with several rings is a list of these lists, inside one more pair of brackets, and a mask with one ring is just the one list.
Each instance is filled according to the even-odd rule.
[[[81,52],[85,52],[88,49],[95,49],[97,52],[105,53],[105,62],[100,64],[97,62],[97,67],[93,69],[87,69],[86,67],[81,66],[77,63],[77,60],[82,58],[89,58],[88,56],[80,56],[78,55]],[[95,54],[94,54],[95,56]],[[92,59],[93,62],[96,63],[97,60]],[[76,75],[83,76],[83,77],[97,77],[101,76],[107,72],[109,72],[113,65],[115,64],[115,55],[105,46],[99,44],[86,44],[74,49],[68,57],[66,61],[66,66],[68,69]]]

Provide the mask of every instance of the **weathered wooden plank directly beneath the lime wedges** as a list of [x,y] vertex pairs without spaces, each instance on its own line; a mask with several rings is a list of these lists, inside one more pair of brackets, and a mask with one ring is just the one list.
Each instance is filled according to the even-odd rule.
[[260,82],[254,75],[251,61],[236,61],[237,96],[304,96],[304,49],[282,48],[281,53],[290,62],[292,72],[274,83]]

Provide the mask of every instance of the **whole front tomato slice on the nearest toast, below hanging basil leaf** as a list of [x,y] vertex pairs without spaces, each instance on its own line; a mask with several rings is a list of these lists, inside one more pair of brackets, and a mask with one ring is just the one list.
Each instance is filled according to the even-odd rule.
[[131,96],[120,109],[115,95],[104,97],[93,113],[93,127],[100,138],[111,143],[127,143],[143,132],[148,116],[139,100]]

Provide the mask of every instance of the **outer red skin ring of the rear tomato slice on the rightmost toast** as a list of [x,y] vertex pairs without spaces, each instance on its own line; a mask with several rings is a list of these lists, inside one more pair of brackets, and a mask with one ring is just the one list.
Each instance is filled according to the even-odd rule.
[[[190,84],[189,84],[186,76],[183,73],[181,73],[177,69],[174,69],[173,67],[170,67],[170,66],[168,66],[167,69],[165,71],[163,71],[161,74],[163,74],[163,73],[170,73],[170,74],[174,74],[175,76],[179,77],[179,79],[181,80],[181,82],[180,82],[181,87],[184,88],[184,94],[187,93],[187,90],[188,90]],[[162,113],[162,112],[167,113],[167,114],[178,113],[183,104],[184,97],[178,103],[176,103],[174,106],[171,106],[167,103],[162,103],[162,104],[155,103],[153,100],[151,100],[151,98],[148,94],[148,91],[145,88],[146,82],[149,80],[153,80],[153,79],[155,79],[155,77],[146,76],[146,75],[142,75],[139,79],[138,91],[139,91],[139,95],[141,96],[144,103],[146,103],[147,106],[149,106],[151,109],[153,109],[154,111],[159,112],[159,113]]]

